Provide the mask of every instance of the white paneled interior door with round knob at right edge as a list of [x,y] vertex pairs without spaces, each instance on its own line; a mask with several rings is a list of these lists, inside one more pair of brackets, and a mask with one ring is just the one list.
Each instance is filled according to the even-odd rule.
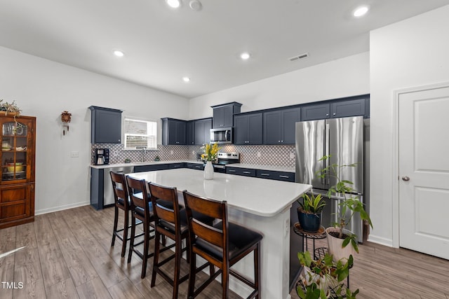
[[449,259],[449,87],[399,95],[399,244]]

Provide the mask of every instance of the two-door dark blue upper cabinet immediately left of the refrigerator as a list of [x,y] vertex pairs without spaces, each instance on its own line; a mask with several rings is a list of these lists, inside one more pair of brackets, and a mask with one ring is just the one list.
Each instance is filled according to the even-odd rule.
[[263,144],[295,144],[295,123],[300,121],[301,109],[265,112]]

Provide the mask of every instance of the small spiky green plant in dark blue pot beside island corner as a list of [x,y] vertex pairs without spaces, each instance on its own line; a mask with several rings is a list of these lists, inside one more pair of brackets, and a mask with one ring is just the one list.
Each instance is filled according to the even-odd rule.
[[297,218],[302,230],[305,232],[318,232],[321,228],[321,212],[326,206],[321,194],[314,193],[302,195],[302,200],[297,200],[300,207],[297,208]]

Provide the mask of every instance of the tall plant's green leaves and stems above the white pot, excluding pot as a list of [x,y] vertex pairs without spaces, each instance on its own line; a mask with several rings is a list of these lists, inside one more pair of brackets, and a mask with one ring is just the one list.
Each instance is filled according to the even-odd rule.
[[[320,161],[328,159],[330,159],[330,155],[325,155],[323,156],[323,158],[320,159]],[[331,195],[335,193],[340,193],[340,195],[342,195],[342,197],[344,198],[342,202],[340,202],[337,211],[337,218],[339,219],[338,223],[335,223],[335,227],[338,228],[337,237],[340,239],[344,239],[342,247],[346,247],[349,243],[351,243],[354,250],[358,253],[357,236],[353,233],[345,236],[343,234],[343,229],[346,227],[346,225],[348,225],[349,221],[351,221],[351,218],[356,213],[360,214],[360,218],[362,221],[368,221],[371,228],[373,228],[373,223],[371,222],[370,216],[365,211],[363,203],[358,199],[358,196],[354,196],[351,194],[354,191],[354,189],[352,188],[352,185],[354,185],[354,183],[351,181],[341,179],[340,176],[342,169],[356,166],[357,163],[349,165],[337,165],[333,163],[328,165],[328,167],[321,169],[317,173],[317,175],[320,178],[331,176],[337,180],[337,183],[334,186],[330,186],[330,188],[328,189],[328,197],[331,197]],[[349,217],[347,217],[347,211],[350,211]]]

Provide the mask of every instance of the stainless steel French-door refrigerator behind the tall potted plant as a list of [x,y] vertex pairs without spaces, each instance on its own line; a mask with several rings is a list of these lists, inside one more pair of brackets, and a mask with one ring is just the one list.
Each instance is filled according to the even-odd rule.
[[[338,174],[340,179],[352,181],[354,195],[363,203],[363,117],[332,118],[328,120],[311,120],[296,123],[296,181],[313,186],[314,193],[327,193],[334,186],[333,177],[319,178],[317,172],[328,163],[349,165],[357,163],[356,167],[344,167]],[[324,155],[330,159],[319,161]],[[342,196],[334,194],[330,200],[326,197],[326,207],[323,209],[322,225],[326,228],[337,223],[338,204]],[[349,214],[349,211],[347,211]],[[363,239],[363,223],[356,214],[347,228],[358,236],[358,242]]]

